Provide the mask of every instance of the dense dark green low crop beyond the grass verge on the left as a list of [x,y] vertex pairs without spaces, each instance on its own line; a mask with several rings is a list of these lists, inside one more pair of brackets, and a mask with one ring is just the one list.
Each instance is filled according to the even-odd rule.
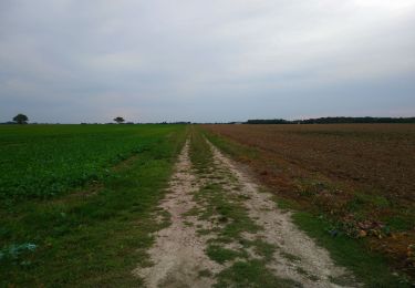
[[131,125],[0,126],[0,198],[45,198],[101,179],[108,167],[169,132]]

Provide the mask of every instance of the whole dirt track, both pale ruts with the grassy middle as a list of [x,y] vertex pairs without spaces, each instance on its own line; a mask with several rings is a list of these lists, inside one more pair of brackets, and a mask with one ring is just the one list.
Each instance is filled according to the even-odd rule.
[[209,167],[193,168],[189,145],[160,205],[172,224],[149,250],[154,266],[134,271],[147,287],[359,286],[214,145]]

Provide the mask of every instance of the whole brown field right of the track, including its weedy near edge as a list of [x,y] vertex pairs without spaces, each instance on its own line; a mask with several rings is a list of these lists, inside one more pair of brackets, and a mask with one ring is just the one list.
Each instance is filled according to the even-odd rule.
[[234,156],[260,183],[324,213],[352,237],[371,237],[370,250],[415,278],[415,125],[205,127],[241,145]]

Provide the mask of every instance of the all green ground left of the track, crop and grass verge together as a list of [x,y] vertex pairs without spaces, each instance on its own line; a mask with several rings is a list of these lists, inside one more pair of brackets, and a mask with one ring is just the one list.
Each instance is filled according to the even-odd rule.
[[0,286],[135,284],[185,131],[0,126]]

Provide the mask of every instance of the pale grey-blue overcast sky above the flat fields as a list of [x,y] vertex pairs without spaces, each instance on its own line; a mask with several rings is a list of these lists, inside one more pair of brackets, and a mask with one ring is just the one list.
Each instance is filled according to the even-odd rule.
[[0,122],[415,116],[415,0],[0,0]]

